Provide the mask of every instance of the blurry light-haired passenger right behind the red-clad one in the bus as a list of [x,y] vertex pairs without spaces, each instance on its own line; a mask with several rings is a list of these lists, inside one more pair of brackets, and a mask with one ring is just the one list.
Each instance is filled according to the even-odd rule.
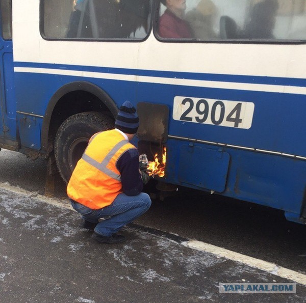
[[207,40],[217,37],[213,29],[216,13],[217,8],[211,0],[201,0],[194,9],[186,14],[193,38]]

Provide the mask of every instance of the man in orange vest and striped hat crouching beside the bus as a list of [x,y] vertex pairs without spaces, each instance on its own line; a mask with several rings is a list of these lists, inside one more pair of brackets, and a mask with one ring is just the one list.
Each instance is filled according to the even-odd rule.
[[116,233],[151,205],[150,197],[141,192],[150,178],[147,166],[140,165],[138,151],[130,143],[138,125],[135,107],[125,101],[115,129],[91,137],[67,185],[71,205],[82,215],[80,227],[94,230],[92,238],[100,243],[125,241]]

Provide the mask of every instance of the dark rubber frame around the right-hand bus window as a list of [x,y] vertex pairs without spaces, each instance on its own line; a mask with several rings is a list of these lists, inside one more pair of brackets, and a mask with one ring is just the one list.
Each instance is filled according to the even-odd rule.
[[163,43],[215,43],[215,44],[285,44],[285,45],[290,45],[290,44],[306,44],[306,40],[284,40],[284,39],[275,39],[275,40],[270,40],[270,39],[213,39],[213,40],[197,40],[196,38],[191,38],[191,39],[177,39],[177,38],[162,38],[158,34],[158,22],[159,22],[159,12],[160,12],[160,5],[161,2],[160,0],[155,0],[155,6],[156,8],[154,9],[154,16],[153,16],[153,34],[154,37],[159,41]]

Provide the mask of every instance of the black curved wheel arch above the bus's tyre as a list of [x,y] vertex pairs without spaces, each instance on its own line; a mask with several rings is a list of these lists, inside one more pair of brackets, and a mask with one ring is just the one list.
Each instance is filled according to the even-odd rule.
[[91,82],[75,81],[61,87],[52,96],[45,111],[41,130],[42,149],[51,152],[56,131],[62,122],[74,114],[87,111],[107,112],[116,117],[118,107],[103,89]]

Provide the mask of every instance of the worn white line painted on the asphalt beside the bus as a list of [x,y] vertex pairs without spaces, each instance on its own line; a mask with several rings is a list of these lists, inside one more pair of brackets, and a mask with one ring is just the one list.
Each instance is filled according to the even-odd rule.
[[[25,197],[33,197],[35,199],[39,199],[45,203],[53,204],[58,207],[68,208],[72,211],[73,208],[70,206],[69,200],[64,199],[60,201],[59,199],[55,198],[48,198],[46,196],[42,196],[39,194],[35,194],[31,191],[22,189],[17,186],[10,185],[8,182],[0,183],[0,189],[5,189],[8,191],[12,191],[16,194],[23,195]],[[228,260],[232,260],[235,262],[239,262],[242,264],[245,264],[247,266],[251,266],[254,268],[258,268],[260,270],[270,272],[271,274],[274,274],[275,276],[278,276],[280,278],[288,279],[293,282],[296,282],[301,285],[306,286],[306,274],[278,266],[274,263],[270,263],[261,259],[256,259],[253,257],[249,257],[246,255],[242,255],[230,250],[223,249],[222,247],[218,247],[209,243],[197,241],[197,240],[190,240],[182,243],[184,246],[187,246],[191,249],[207,252],[213,255],[216,255],[218,257],[222,257]]]

